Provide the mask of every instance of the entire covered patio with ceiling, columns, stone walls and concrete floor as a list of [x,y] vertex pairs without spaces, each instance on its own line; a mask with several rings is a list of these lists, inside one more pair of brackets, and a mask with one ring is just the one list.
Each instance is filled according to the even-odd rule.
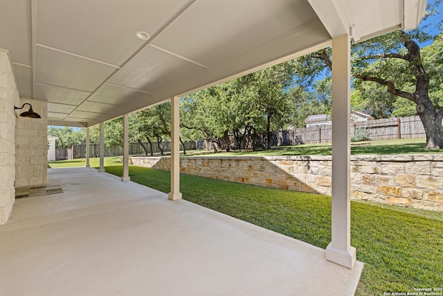
[[[1,1],[1,287],[11,295],[28,288],[174,295],[185,287],[194,289],[188,295],[323,287],[352,294],[361,264],[350,245],[351,44],[415,28],[425,8],[426,0]],[[180,97],[328,46],[334,145],[327,249],[181,200]],[[129,113],[165,101],[168,199],[176,202],[132,184],[128,173]],[[23,117],[31,105],[41,118]],[[103,161],[105,122],[119,116],[121,179],[105,174]],[[87,143],[89,128],[100,125],[98,172],[48,173],[47,125],[86,128]],[[15,202],[16,190],[51,182],[65,192]]]

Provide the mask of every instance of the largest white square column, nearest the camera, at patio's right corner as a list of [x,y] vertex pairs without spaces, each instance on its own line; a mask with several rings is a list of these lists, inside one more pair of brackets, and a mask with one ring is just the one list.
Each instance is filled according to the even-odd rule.
[[350,215],[350,36],[332,40],[332,242],[326,259],[347,268],[355,263]]

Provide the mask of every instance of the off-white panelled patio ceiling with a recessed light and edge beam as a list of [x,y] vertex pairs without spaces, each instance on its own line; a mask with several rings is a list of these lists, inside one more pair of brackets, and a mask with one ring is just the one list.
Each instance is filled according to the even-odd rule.
[[[91,126],[324,48],[349,31],[358,42],[413,28],[425,6],[425,0],[1,0],[0,48],[10,51],[20,96],[48,101],[48,124]],[[136,31],[150,39],[138,39]]]

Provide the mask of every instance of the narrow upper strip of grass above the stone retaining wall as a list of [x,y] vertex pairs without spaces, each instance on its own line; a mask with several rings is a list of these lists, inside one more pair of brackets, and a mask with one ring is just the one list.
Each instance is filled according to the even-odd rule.
[[[426,139],[399,139],[389,141],[366,141],[352,143],[351,155],[395,155],[413,153],[443,153],[440,150],[426,149]],[[278,146],[269,150],[235,150],[230,153],[217,153],[217,156],[280,156],[280,155],[331,155],[331,143]],[[190,155],[194,156],[194,155]],[[205,156],[214,156],[206,154]]]

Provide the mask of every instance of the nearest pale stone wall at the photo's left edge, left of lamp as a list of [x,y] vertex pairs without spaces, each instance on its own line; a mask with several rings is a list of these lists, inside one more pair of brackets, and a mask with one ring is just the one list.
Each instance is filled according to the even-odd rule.
[[19,93],[8,51],[0,49],[0,224],[15,202],[15,113]]

